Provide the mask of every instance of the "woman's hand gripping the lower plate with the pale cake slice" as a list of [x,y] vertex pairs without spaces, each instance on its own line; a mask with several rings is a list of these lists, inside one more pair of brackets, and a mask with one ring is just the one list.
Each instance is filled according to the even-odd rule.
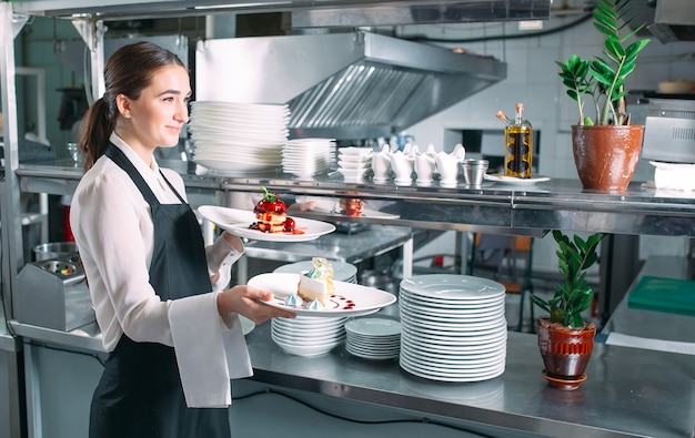
[[255,324],[263,324],[271,318],[293,318],[293,312],[266,306],[259,301],[269,302],[273,294],[253,286],[234,286],[218,294],[218,312],[220,315],[236,312]]

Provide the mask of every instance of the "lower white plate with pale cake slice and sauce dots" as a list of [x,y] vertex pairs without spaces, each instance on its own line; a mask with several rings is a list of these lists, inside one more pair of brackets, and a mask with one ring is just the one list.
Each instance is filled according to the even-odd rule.
[[322,257],[302,274],[268,273],[249,279],[249,286],[273,293],[273,299],[261,302],[303,316],[363,316],[395,303],[395,295],[354,283],[333,279],[333,268]]

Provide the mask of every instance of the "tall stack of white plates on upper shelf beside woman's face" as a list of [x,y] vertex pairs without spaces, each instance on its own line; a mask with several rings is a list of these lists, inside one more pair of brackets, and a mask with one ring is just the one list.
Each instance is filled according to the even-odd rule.
[[258,173],[282,164],[288,140],[288,105],[193,102],[189,130],[193,161],[224,173]]

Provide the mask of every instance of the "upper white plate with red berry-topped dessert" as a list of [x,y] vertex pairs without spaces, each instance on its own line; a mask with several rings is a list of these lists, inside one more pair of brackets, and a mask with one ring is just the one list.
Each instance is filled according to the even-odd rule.
[[222,230],[253,241],[306,242],[335,231],[326,222],[288,216],[288,206],[265,187],[253,211],[201,205],[198,212]]

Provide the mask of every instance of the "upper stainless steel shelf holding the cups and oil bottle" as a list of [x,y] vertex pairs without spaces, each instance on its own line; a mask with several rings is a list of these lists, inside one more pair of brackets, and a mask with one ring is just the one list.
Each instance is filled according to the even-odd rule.
[[[80,170],[23,165],[17,171],[22,191],[71,194]],[[299,180],[282,174],[232,177],[183,175],[189,191],[258,193],[264,185],[281,194],[394,201],[399,218],[348,218],[305,213],[306,217],[414,228],[543,234],[548,230],[695,236],[695,193],[659,191],[631,183],[626,193],[582,190],[578,180],[553,179],[532,185],[485,182],[480,189],[396,185],[392,181],[345,183],[340,174]]]

